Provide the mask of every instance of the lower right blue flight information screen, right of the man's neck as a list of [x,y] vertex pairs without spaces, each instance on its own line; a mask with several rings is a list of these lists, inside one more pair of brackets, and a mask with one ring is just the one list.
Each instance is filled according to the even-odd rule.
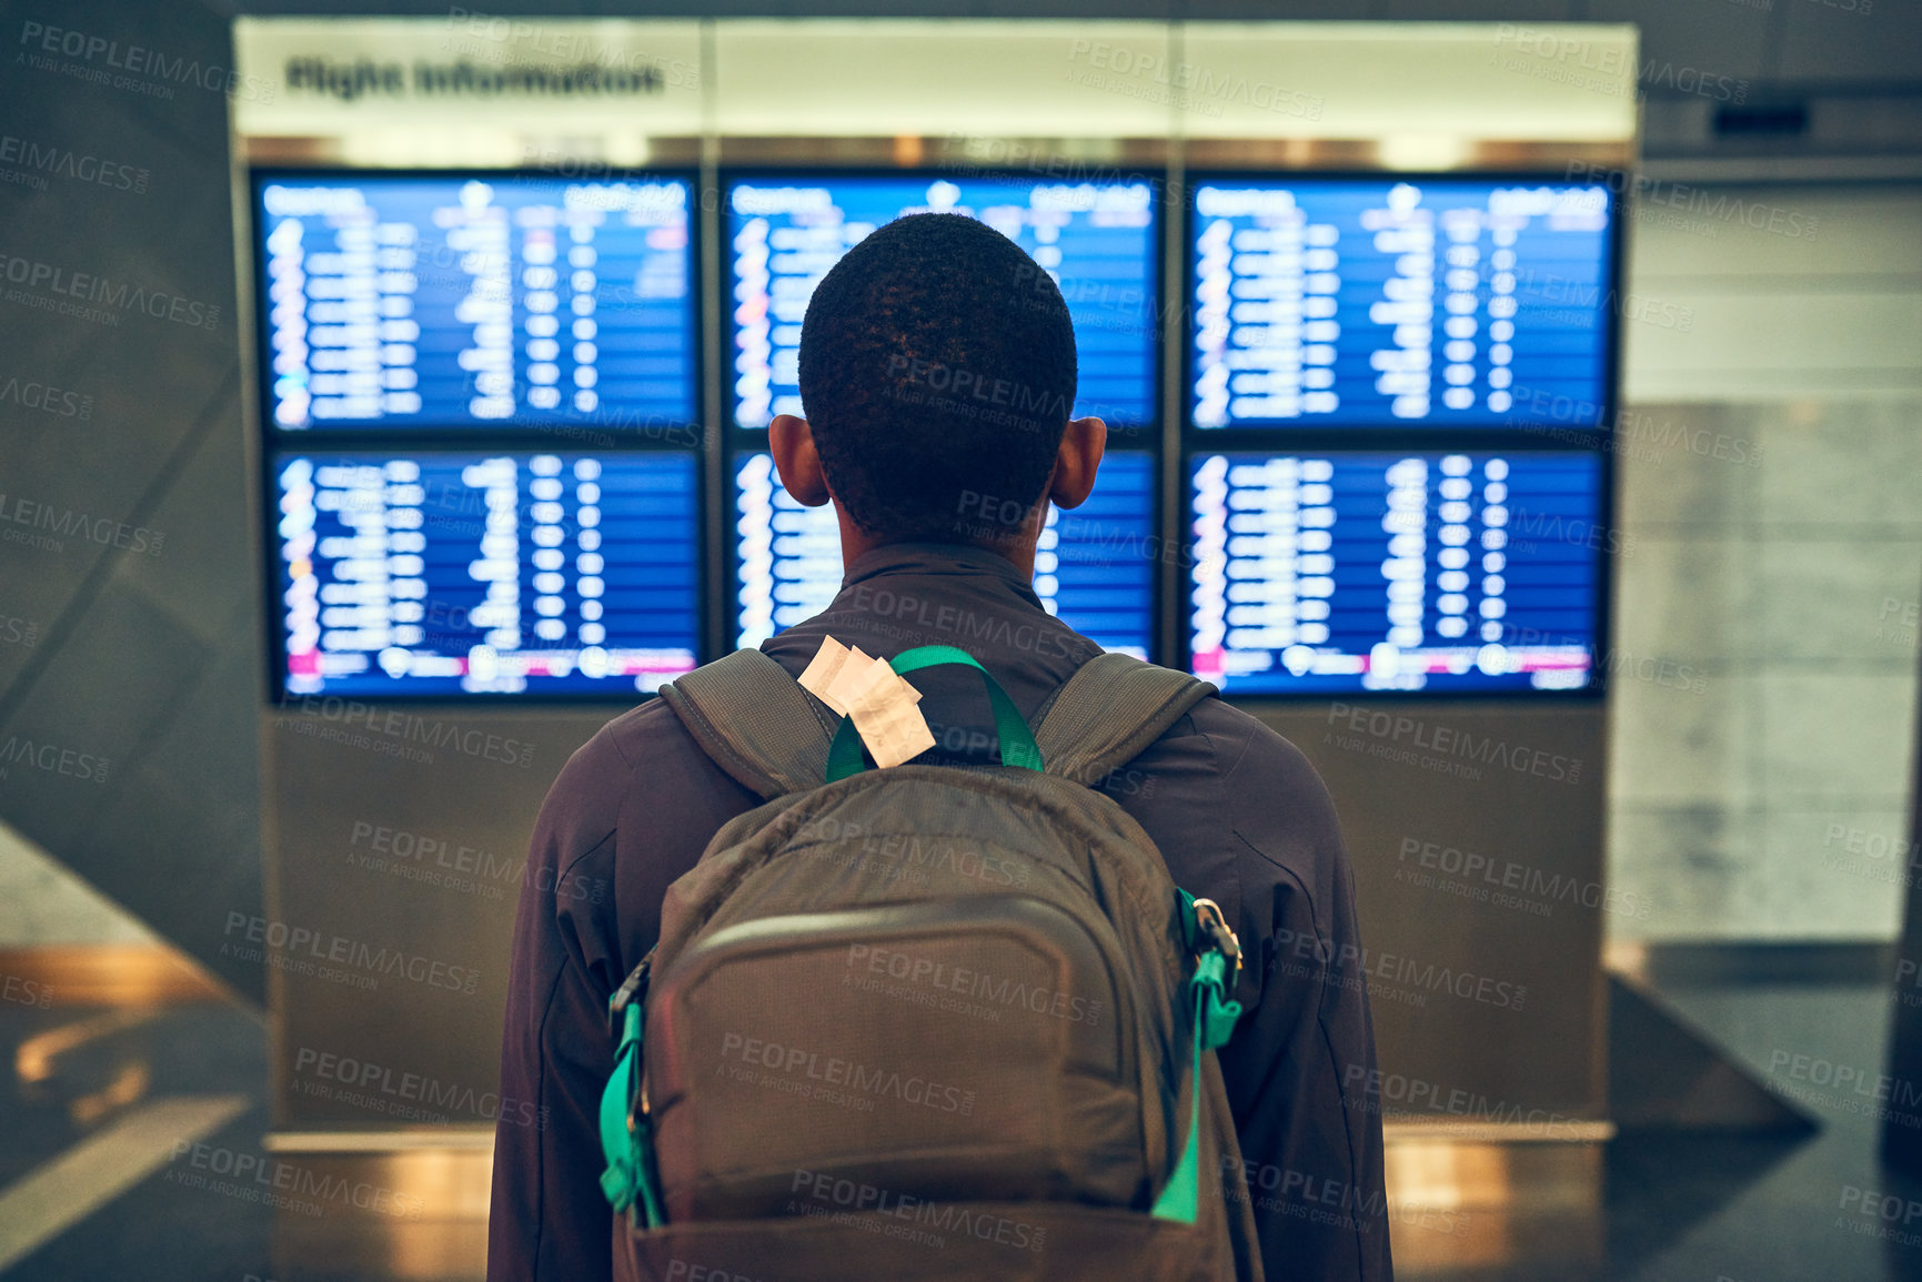
[[1201,454],[1190,667],[1228,694],[1578,690],[1595,454]]

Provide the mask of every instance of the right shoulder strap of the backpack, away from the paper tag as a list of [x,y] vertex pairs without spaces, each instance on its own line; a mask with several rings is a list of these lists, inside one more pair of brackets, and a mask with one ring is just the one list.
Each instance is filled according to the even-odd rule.
[[1097,653],[1049,700],[1034,744],[1049,775],[1096,788],[1211,694],[1215,686],[1188,673]]

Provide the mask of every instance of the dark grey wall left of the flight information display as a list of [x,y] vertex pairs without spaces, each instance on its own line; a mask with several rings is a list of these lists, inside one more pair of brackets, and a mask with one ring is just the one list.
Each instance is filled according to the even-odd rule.
[[[231,29],[131,0],[10,6],[6,23],[10,48],[29,23],[79,40],[17,48],[0,77],[0,817],[261,999],[209,911],[261,903]],[[165,65],[106,67],[110,42]],[[48,867],[0,853],[0,898],[37,894]],[[63,900],[8,917],[6,942],[123,934]]]

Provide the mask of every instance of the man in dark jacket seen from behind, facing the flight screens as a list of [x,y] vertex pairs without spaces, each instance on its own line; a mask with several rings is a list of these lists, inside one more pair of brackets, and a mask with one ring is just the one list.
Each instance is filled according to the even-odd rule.
[[[798,677],[828,634],[882,657],[961,646],[1032,721],[1099,653],[1030,586],[1047,504],[1088,498],[1107,438],[1099,419],[1067,419],[1074,331],[1053,281],[969,217],[901,217],[821,281],[800,384],[807,419],[776,417],[771,448],[794,498],[834,504],[848,573],[826,611],[763,650]],[[996,759],[967,677],[915,675],[938,740],[919,761]],[[1388,1282],[1374,1034],[1326,790],[1294,746],[1220,700],[1101,788],[1178,886],[1222,905],[1249,957],[1236,994],[1247,1015],[1220,1051],[1244,1155],[1224,1188],[1253,1201],[1267,1276]],[[548,794],[529,884],[611,894],[521,898],[502,1094],[536,1101],[546,1126],[498,1128],[494,1282],[611,1276],[625,1220],[598,1184],[607,998],[653,946],[667,886],[755,805],[661,700],[611,721]]]

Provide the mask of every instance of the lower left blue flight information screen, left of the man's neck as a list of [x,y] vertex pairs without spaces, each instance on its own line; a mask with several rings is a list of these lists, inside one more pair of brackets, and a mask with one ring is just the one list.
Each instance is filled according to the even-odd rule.
[[694,669],[692,454],[279,454],[288,696],[632,694]]

